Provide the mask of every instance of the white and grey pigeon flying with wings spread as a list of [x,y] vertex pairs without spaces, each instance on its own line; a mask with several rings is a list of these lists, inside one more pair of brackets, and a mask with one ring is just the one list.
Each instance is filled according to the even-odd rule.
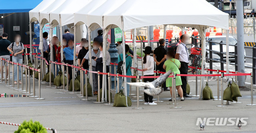
[[144,90],[144,92],[150,96],[155,96],[155,95],[159,95],[160,93],[162,93],[164,91],[164,90],[162,90],[160,88],[156,88],[156,87],[160,86],[164,81],[166,81],[166,79],[168,78],[168,76],[170,74],[171,74],[171,70],[169,70],[162,76],[156,78],[156,80],[154,80],[152,82],[135,82],[135,83],[127,83],[127,84],[130,84],[132,86],[147,88]]

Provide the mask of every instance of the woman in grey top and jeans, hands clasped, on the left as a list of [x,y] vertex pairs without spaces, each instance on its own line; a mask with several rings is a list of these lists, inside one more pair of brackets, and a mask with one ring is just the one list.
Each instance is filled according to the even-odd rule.
[[[12,54],[12,61],[14,63],[22,64],[23,62],[22,53],[24,52],[25,47],[20,42],[20,39],[21,37],[19,34],[15,35],[14,42],[11,43],[7,49]],[[21,77],[22,77],[22,71],[21,71],[21,66],[19,66],[19,84],[22,84]],[[14,65],[14,84],[17,84],[17,82],[18,82],[17,65]]]

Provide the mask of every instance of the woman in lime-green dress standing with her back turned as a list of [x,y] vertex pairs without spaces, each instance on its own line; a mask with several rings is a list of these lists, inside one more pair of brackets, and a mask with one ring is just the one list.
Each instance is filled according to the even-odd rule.
[[[167,60],[164,62],[163,68],[166,70],[166,72],[171,70],[172,72],[174,72],[174,74],[180,74],[180,70],[179,70],[180,61],[175,59],[174,56],[175,56],[174,51],[168,51]],[[181,82],[180,76],[176,76],[176,89],[178,90],[178,94],[182,96],[180,98],[181,101],[184,101],[181,85],[182,85],[182,82]],[[170,92],[172,95],[172,78],[166,79],[166,87],[170,87]],[[170,99],[169,101],[172,101],[172,99]]]

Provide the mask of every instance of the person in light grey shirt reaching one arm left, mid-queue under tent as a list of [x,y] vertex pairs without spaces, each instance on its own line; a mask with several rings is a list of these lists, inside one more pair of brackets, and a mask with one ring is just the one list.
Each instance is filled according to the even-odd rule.
[[[100,44],[97,41],[94,41],[92,44],[93,49],[91,49],[91,53],[92,53],[92,57],[100,57]],[[89,49],[90,50],[90,49]],[[81,64],[79,67],[82,67],[82,65],[84,64],[84,62],[87,60],[89,60],[89,52],[86,53],[84,59],[82,60]],[[94,61],[94,59],[92,59],[92,71],[96,71],[96,61]],[[96,73],[92,73],[92,82],[93,82],[93,94],[97,95],[98,94],[98,75]]]

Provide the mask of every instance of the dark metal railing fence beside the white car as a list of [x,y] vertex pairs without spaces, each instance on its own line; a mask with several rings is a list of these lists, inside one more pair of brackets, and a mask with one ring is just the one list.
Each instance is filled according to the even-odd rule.
[[[192,35],[191,37],[192,39],[192,45],[198,45],[198,44],[202,44],[201,43],[201,38],[198,38],[198,36],[194,36]],[[197,42],[197,40],[200,40],[200,42]],[[226,57],[224,55],[226,55],[227,53],[223,51],[223,45],[226,45],[226,43],[222,43],[221,42],[215,42],[212,40],[206,40],[206,42],[209,42],[209,49],[206,49],[206,51],[208,52],[208,57],[206,57],[206,59],[209,61],[210,63],[210,69],[212,69],[212,62],[218,62],[220,63],[220,69],[224,70],[224,64],[226,63],[226,61],[224,61],[226,59]],[[219,44],[220,45],[220,51],[214,51],[212,50],[212,43],[215,44]],[[234,53],[228,53],[229,56],[235,57],[235,63],[229,63],[230,65],[234,65],[235,66],[235,70],[238,70],[238,55],[237,55],[237,44],[236,45],[231,45],[230,46],[234,46],[235,47],[235,52]],[[244,46],[246,48],[250,48],[252,50],[252,55],[253,57],[250,56],[244,56],[245,59],[252,59],[252,66],[244,66],[246,68],[252,68],[252,73],[253,73],[253,84],[256,84],[256,45],[254,45],[254,47],[248,47],[248,46]],[[220,56],[220,60],[216,60],[216,59],[212,59],[212,53],[217,53]]]

